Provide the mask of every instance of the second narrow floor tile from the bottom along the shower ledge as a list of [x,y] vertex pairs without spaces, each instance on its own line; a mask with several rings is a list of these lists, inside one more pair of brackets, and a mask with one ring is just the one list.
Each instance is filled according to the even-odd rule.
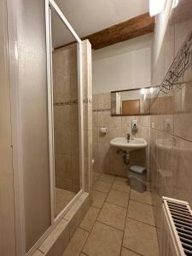
[[96,221],[96,218],[100,212],[99,208],[96,207],[90,207],[89,211],[84,216],[84,219],[82,220],[80,224],[80,228],[90,231]]

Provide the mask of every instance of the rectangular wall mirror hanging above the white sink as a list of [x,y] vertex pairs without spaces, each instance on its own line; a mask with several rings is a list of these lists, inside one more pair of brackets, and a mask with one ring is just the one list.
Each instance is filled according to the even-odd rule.
[[111,92],[111,115],[149,114],[153,87]]

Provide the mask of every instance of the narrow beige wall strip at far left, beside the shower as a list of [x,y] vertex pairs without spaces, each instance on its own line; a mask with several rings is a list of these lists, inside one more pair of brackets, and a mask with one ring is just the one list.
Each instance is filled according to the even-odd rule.
[[0,255],[15,256],[14,173],[6,7],[6,1],[0,1]]

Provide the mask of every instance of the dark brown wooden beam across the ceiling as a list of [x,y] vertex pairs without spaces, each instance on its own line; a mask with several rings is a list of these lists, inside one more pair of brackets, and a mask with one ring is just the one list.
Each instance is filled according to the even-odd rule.
[[154,32],[154,24],[154,17],[151,17],[147,13],[117,25],[109,26],[100,32],[95,32],[82,39],[89,39],[92,49],[101,49],[112,44]]

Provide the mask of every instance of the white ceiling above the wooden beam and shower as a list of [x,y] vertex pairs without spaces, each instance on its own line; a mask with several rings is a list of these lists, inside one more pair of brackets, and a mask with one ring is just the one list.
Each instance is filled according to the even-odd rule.
[[[124,20],[147,13],[148,0],[55,0],[74,30],[82,38]],[[59,22],[53,19],[55,46],[67,44]]]

